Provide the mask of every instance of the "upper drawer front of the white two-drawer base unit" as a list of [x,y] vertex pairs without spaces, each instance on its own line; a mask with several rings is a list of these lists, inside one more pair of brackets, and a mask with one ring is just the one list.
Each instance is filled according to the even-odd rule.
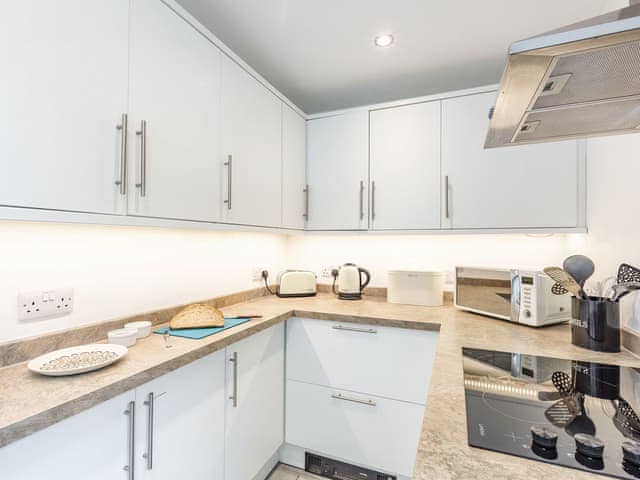
[[438,334],[292,318],[287,378],[424,405]]

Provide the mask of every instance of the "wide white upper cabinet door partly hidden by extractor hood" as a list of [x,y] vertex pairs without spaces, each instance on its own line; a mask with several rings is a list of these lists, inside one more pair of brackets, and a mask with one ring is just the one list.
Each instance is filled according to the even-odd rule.
[[443,227],[578,226],[578,143],[484,149],[494,100],[485,93],[442,102]]

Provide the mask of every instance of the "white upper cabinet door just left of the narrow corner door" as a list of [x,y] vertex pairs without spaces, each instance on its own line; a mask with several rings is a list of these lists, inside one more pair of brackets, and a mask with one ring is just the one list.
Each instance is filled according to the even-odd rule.
[[223,219],[280,226],[282,102],[235,62],[222,62]]

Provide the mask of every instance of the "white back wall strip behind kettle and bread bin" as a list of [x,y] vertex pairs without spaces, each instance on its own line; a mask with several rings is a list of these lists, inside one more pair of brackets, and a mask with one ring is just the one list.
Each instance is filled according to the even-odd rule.
[[305,235],[289,238],[288,258],[319,278],[322,267],[356,263],[371,272],[371,286],[386,286],[388,270],[444,270],[451,289],[456,265],[541,268],[566,250],[566,235]]

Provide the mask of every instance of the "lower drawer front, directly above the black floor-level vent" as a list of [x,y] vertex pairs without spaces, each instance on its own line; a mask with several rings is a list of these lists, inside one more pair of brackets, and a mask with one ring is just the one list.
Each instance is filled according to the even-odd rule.
[[392,474],[413,474],[423,414],[422,405],[287,382],[287,443]]

